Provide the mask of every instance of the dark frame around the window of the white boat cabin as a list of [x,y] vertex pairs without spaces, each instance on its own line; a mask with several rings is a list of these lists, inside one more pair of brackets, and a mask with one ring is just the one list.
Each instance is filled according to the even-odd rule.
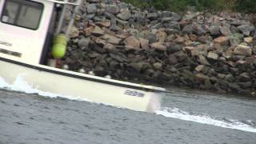
[[[4,16],[4,10],[6,10],[6,2],[7,2],[7,1],[4,2],[3,9],[2,9],[2,12],[1,12],[0,21],[1,21],[2,23],[5,23],[5,24],[11,25],[11,26],[18,26],[18,27],[22,27],[22,28],[29,29],[29,30],[38,30],[39,27],[40,27],[40,23],[41,23],[41,21],[42,21],[42,14],[43,14],[44,9],[45,9],[44,3],[42,3],[42,2],[35,2],[35,1],[31,1],[31,0],[22,0],[22,1],[23,1],[23,2],[15,2],[15,3],[18,3],[19,5],[24,5],[24,4],[22,4],[22,3],[24,3],[24,1],[26,1],[26,2],[33,2],[33,3],[35,3],[35,4],[38,4],[38,5],[42,6],[41,14],[39,15],[38,25],[37,25],[36,28],[32,28],[32,27],[29,27],[29,26],[19,26],[19,25],[16,24],[16,23],[3,22],[3,21],[2,21],[2,17]],[[24,5],[24,6],[34,7],[34,6],[31,6],[31,5]],[[19,12],[20,12],[20,11],[19,11]]]

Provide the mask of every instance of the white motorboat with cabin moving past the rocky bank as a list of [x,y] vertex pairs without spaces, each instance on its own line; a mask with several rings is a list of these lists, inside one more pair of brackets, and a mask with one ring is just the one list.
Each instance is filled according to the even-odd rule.
[[[81,3],[82,0],[0,0],[0,77],[10,84],[22,77],[38,90],[154,113],[160,108],[166,89],[63,70],[56,67],[57,60],[47,58],[54,49],[56,59],[65,53],[63,38],[68,39]],[[61,34],[69,7],[74,13],[66,32]]]

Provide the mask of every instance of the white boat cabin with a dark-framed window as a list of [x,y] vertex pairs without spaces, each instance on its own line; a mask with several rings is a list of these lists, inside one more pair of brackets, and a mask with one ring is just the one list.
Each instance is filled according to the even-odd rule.
[[[0,57],[46,64],[54,34],[58,34],[62,26],[65,13],[63,7],[75,7],[80,2],[0,0]],[[58,7],[62,7],[62,12],[59,12],[62,19],[56,19]]]

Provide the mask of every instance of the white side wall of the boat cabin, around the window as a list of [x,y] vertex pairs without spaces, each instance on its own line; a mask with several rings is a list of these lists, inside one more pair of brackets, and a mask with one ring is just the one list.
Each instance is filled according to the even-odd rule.
[[[40,2],[44,5],[42,19],[38,26],[38,30],[30,30],[0,22],[0,41],[12,44],[12,46],[0,45],[0,48],[22,54],[22,57],[18,58],[10,54],[0,53],[0,57],[32,64],[38,64],[40,62],[51,15],[54,10],[54,2],[44,0],[33,1]],[[4,1],[0,0],[0,13],[2,13],[3,5]]]

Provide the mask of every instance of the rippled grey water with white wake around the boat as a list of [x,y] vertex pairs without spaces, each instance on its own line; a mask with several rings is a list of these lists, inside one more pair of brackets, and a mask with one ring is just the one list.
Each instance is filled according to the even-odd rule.
[[0,78],[0,88],[0,143],[256,142],[254,98],[171,88],[147,114],[39,91],[22,78]]

